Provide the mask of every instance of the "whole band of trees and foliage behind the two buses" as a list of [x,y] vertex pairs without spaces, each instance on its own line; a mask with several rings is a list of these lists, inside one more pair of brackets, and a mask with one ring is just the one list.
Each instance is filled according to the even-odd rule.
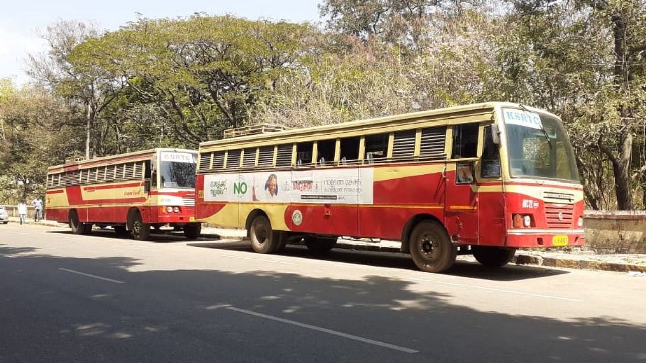
[[[0,81],[0,183],[13,185],[0,198],[34,192],[45,167],[84,141],[97,156],[194,148],[246,123],[303,127],[491,100],[563,118],[589,207],[646,205],[643,1],[319,8],[325,31],[196,14],[99,35],[59,21],[48,28],[50,52],[30,59],[47,88]],[[27,179],[32,186],[17,189]]]

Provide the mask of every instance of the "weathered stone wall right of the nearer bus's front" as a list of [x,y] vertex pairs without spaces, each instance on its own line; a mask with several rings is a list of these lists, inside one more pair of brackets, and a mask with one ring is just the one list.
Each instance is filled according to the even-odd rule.
[[587,211],[585,235],[595,253],[646,253],[646,211]]

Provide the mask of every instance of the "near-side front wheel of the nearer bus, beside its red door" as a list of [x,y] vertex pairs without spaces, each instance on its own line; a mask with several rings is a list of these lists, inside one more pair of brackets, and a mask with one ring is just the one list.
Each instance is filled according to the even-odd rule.
[[413,262],[422,271],[442,273],[455,262],[457,247],[451,243],[440,223],[432,220],[417,223],[409,243]]

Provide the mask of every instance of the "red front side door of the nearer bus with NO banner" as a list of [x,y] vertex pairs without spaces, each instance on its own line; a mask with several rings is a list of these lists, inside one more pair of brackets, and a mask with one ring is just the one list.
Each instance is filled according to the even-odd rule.
[[449,161],[447,164],[444,226],[453,242],[477,244],[478,194],[474,167],[475,161]]

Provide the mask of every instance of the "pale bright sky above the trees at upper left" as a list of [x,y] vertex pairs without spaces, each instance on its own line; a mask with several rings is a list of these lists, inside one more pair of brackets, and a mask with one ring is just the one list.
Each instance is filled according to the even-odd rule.
[[231,14],[247,19],[319,21],[320,0],[0,0],[0,78],[16,85],[30,81],[25,74],[28,54],[47,50],[39,32],[58,19],[96,23],[114,30],[138,13],[143,17]]

